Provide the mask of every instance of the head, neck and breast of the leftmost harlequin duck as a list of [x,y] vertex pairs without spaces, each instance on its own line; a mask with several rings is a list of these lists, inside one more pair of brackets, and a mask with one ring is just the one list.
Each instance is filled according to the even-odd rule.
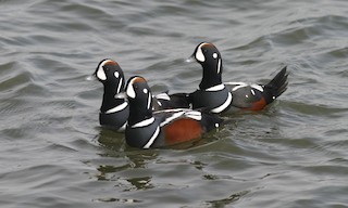
[[128,119],[129,105],[125,96],[120,96],[125,86],[122,68],[113,60],[102,60],[94,76],[104,87],[99,113],[100,125],[123,131]]

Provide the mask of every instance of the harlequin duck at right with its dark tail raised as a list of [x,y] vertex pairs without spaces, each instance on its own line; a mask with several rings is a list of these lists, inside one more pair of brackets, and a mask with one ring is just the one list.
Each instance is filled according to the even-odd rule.
[[272,103],[287,89],[286,66],[266,84],[222,82],[222,57],[212,43],[197,46],[191,58],[203,69],[199,89],[189,94],[192,108],[207,107],[212,113],[223,113],[232,106],[259,110]]

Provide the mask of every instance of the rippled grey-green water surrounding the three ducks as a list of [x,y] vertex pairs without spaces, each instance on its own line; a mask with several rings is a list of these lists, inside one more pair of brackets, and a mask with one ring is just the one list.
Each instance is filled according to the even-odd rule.
[[[348,3],[0,1],[1,207],[348,207]],[[195,144],[139,151],[99,127],[100,60],[154,92],[192,91],[217,46],[225,81],[289,88]]]

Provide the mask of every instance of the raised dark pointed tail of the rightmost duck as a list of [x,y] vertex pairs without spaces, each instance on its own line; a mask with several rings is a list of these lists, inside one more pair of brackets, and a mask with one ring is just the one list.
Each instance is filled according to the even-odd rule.
[[286,72],[287,66],[284,66],[282,70],[268,83],[264,86],[265,101],[266,103],[272,103],[276,98],[278,98],[287,89],[287,77]]

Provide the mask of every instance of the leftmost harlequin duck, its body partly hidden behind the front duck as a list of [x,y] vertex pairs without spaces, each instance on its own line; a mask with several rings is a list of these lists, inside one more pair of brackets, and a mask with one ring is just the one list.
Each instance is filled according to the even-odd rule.
[[[92,75],[104,87],[99,113],[101,126],[124,131],[128,118],[128,101],[124,94],[125,78],[121,66],[113,60],[102,60]],[[169,95],[167,92],[152,96],[153,110],[188,107],[186,94]]]

